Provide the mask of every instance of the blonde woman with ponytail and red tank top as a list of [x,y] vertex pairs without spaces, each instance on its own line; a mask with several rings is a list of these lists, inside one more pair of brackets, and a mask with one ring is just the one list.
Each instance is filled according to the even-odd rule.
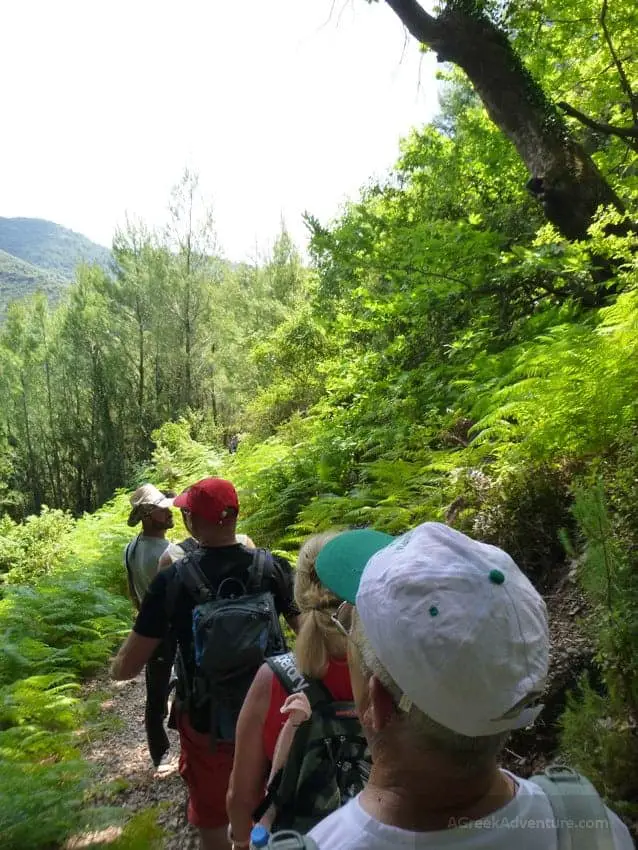
[[[273,759],[276,760],[275,753],[281,741],[282,729],[287,725],[287,710],[285,714],[282,713],[284,706],[286,705],[287,709],[290,705],[293,711],[301,706],[301,701],[295,702],[295,699],[302,696],[303,700],[306,700],[306,695],[311,694],[309,683],[314,683],[314,687],[320,689],[322,697],[327,691],[326,696],[330,702],[352,702],[352,686],[346,661],[346,639],[332,620],[342,600],[319,582],[315,572],[318,553],[334,536],[334,533],[317,534],[302,546],[295,571],[295,602],[301,611],[301,628],[295,644],[295,655],[278,656],[269,659],[262,666],[253,680],[239,715],[235,761],[227,796],[229,838],[236,848],[248,846],[253,815],[264,800],[268,773]],[[291,697],[293,690],[303,693]],[[307,717],[310,709],[311,706],[307,704],[305,714],[300,713],[298,721]],[[364,750],[365,740],[354,714],[354,706],[352,714],[356,736],[361,743],[361,749]],[[291,732],[293,745],[295,734],[300,733]],[[308,738],[304,737],[298,743],[303,752],[313,750]],[[287,744],[287,747],[289,746],[290,742]],[[284,753],[284,761],[286,755],[291,758],[294,753]],[[318,749],[312,757],[327,762],[328,756],[328,753]],[[300,764],[297,764],[294,770],[297,774],[303,772],[307,775],[312,766],[306,763],[302,771]],[[290,787],[291,794],[285,799],[281,796],[278,798],[279,811],[269,813],[266,808],[263,812],[263,815],[267,816],[266,823],[269,826],[274,816],[279,828],[294,826],[303,831],[338,805],[338,801],[335,803],[334,799],[326,797],[326,784],[319,784],[319,780],[313,784],[309,797],[299,799],[293,795],[296,790],[295,778],[292,778],[292,785],[289,779],[286,780],[286,787]],[[332,778],[329,777],[328,785]],[[278,791],[283,790],[283,785],[280,785]],[[329,805],[330,802],[332,806]],[[300,815],[302,812],[307,815],[303,825],[294,820],[294,815]],[[282,816],[288,816],[289,819],[282,822]],[[264,823],[263,817],[261,822]]]

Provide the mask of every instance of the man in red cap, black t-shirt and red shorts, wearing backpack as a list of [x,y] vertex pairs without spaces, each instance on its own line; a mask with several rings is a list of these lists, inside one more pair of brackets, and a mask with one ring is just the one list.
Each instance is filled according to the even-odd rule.
[[174,631],[188,819],[204,850],[228,850],[226,791],[239,709],[264,657],[286,651],[279,615],[296,631],[299,612],[290,564],[237,543],[239,501],[229,481],[205,478],[174,504],[187,512],[199,548],[153,580],[112,675],[137,675]]

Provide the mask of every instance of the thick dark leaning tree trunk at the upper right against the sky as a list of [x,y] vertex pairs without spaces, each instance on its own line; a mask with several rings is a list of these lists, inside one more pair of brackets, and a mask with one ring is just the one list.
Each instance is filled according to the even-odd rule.
[[528,188],[567,239],[587,238],[601,204],[623,206],[561,114],[524,67],[507,35],[476,0],[449,0],[438,18],[416,0],[386,0],[439,61],[465,71],[488,115],[512,141],[530,173]]

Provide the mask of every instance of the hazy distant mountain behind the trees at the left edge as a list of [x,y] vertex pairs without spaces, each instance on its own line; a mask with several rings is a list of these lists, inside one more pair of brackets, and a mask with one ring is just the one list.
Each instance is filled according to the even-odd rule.
[[108,269],[111,252],[52,221],[0,217],[0,317],[9,301],[36,290],[55,301],[82,262]]

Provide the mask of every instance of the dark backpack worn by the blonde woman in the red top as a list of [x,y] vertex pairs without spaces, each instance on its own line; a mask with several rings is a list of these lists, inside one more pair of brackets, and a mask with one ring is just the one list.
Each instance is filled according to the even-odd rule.
[[253,818],[259,821],[274,805],[274,829],[307,832],[363,789],[370,751],[353,702],[337,702],[321,682],[305,679],[292,653],[267,662],[288,694],[305,693],[312,714],[297,729],[286,764]]

